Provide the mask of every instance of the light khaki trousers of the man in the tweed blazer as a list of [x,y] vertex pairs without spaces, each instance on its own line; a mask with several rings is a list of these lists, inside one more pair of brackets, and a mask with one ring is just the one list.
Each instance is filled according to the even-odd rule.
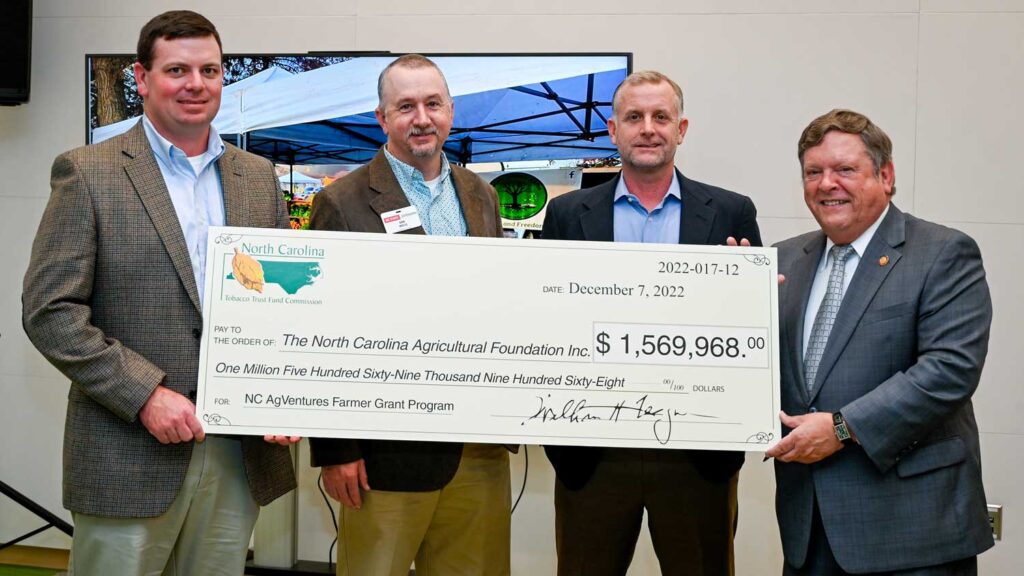
[[207,437],[193,449],[171,507],[157,518],[75,517],[72,576],[239,576],[259,506],[242,443]]

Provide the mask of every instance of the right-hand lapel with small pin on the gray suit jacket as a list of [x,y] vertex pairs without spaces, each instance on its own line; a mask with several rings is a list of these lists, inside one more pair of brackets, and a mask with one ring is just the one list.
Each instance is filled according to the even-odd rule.
[[[864,250],[863,257],[857,264],[853,280],[843,296],[843,303],[840,305],[839,314],[836,316],[836,323],[828,334],[828,342],[825,344],[824,353],[821,355],[821,363],[818,365],[817,383],[811,394],[811,399],[817,396],[822,383],[828,379],[828,373],[839,360],[846,344],[853,336],[853,331],[860,323],[864,311],[871,303],[874,294],[878,293],[886,277],[896,266],[902,253],[898,247],[903,244],[906,237],[906,219],[903,212],[900,212],[895,205],[889,205],[889,213],[882,220],[879,230],[874,233],[874,238]],[[886,265],[879,263],[883,256],[888,258]]]

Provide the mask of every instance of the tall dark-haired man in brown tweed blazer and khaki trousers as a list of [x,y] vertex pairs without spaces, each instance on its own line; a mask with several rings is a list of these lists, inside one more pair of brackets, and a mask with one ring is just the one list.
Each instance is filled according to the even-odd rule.
[[142,121],[57,157],[25,277],[25,330],[71,379],[71,570],[238,575],[258,506],[295,477],[285,446],[206,438],[196,418],[206,231],[288,216],[269,162],[211,128],[223,75],[209,20],[152,19],[134,73]]

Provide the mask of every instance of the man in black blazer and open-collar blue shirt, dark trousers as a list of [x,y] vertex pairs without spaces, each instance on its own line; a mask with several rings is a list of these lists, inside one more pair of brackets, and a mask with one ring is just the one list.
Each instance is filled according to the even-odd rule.
[[[623,168],[609,182],[554,199],[543,238],[598,242],[761,245],[750,198],[675,168],[686,134],[683,94],[657,72],[615,90],[611,140]],[[559,576],[626,574],[644,509],[665,575],[734,571],[741,452],[548,446],[555,467]]]

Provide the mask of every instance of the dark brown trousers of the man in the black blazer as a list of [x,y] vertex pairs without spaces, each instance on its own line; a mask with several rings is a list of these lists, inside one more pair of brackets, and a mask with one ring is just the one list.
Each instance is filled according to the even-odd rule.
[[645,508],[663,575],[733,574],[737,479],[709,482],[679,450],[606,449],[582,489],[555,482],[559,576],[626,574]]

